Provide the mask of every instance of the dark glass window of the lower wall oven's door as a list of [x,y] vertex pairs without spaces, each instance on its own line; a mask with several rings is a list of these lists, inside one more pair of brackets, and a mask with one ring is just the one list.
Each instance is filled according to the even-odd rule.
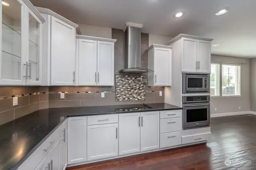
[[187,110],[187,123],[207,121],[207,108]]

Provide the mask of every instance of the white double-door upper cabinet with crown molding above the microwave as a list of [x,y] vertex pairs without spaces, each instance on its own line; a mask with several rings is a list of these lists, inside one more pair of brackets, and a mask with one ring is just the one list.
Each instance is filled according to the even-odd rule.
[[172,45],[173,57],[181,58],[181,71],[190,73],[211,72],[211,41],[202,38],[180,34],[166,45]]

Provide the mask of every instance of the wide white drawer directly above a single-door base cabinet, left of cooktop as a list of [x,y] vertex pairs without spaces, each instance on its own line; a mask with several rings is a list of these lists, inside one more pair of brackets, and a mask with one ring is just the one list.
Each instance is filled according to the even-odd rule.
[[88,116],[87,124],[88,125],[102,125],[108,123],[118,123],[118,114],[115,115],[97,115],[97,116]]

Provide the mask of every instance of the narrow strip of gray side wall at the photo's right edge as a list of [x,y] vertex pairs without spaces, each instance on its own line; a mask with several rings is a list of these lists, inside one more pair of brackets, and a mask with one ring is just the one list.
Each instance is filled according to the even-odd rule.
[[256,111],[256,58],[250,59],[250,107]]

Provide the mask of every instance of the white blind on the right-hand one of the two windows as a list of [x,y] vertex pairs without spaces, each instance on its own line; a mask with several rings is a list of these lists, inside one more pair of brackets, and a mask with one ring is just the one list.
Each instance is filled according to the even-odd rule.
[[241,95],[240,65],[222,65],[222,96]]

